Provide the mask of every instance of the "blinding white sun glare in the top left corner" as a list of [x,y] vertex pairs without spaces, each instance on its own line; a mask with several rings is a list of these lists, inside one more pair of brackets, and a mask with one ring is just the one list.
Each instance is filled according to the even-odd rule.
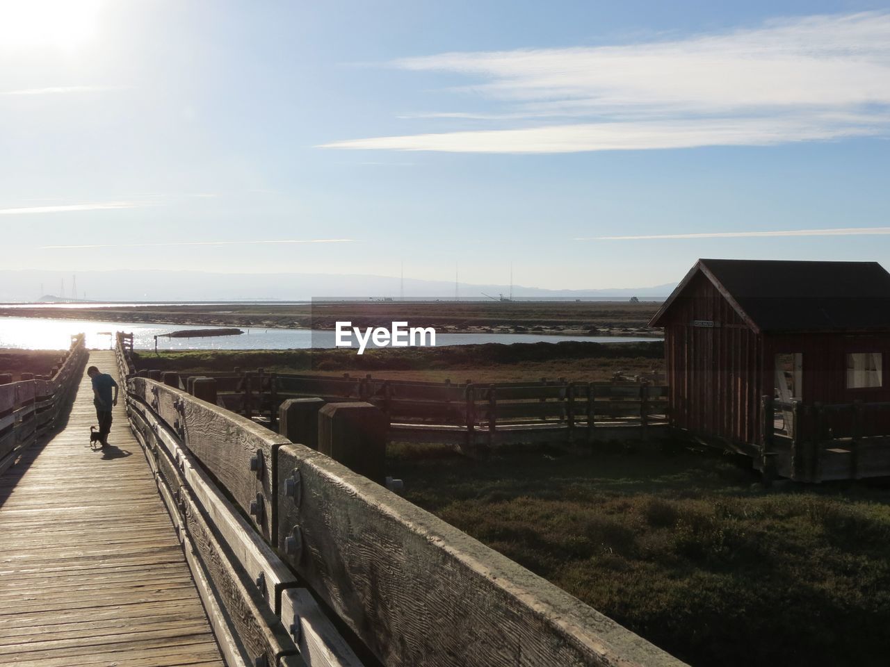
[[100,0],[0,0],[0,47],[71,49],[95,35]]

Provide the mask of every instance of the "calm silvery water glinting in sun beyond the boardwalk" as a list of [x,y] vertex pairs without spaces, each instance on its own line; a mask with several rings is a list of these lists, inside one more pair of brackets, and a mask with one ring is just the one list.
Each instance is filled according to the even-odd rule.
[[[72,333],[86,334],[86,347],[109,348],[108,332],[134,334],[134,346],[153,349],[154,337],[160,333],[183,329],[206,329],[205,326],[156,325],[141,322],[101,322],[85,319],[44,319],[41,317],[0,317],[0,348],[22,350],[62,350],[69,346]],[[290,350],[315,347],[333,348],[333,331],[309,329],[242,329],[239,336],[210,338],[158,338],[158,350]],[[637,342],[652,338],[620,336],[554,336],[536,333],[437,333],[436,346],[474,345],[483,342]]]

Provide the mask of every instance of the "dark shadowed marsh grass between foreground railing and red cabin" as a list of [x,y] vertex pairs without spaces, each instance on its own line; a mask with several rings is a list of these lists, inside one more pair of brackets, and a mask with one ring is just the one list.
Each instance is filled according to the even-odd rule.
[[890,488],[765,492],[750,462],[613,447],[477,462],[394,445],[405,495],[704,665],[884,665]]

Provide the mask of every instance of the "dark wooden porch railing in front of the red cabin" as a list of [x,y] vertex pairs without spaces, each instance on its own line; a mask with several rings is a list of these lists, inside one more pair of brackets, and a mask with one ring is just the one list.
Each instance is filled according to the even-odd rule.
[[761,405],[769,474],[805,482],[890,476],[890,403],[765,396]]

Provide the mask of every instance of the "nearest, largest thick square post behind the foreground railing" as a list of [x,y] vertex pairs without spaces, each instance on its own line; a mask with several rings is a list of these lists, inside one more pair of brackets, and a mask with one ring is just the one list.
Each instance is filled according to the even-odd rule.
[[369,403],[328,403],[319,410],[319,451],[383,485],[389,420]]

